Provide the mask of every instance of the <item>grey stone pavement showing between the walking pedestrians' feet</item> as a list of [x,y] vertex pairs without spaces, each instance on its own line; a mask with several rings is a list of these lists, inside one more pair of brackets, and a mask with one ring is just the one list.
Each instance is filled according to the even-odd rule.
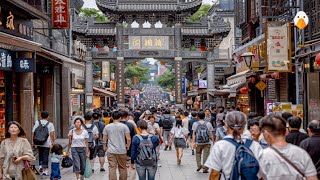
[[[163,149],[163,148],[162,148]],[[195,155],[191,155],[190,149],[184,150],[181,165],[177,165],[174,148],[171,151],[160,150],[160,164],[158,167],[156,180],[208,180],[209,174],[203,174],[202,171],[197,172]],[[108,162],[105,163],[106,172],[99,171],[98,158],[95,160],[95,173],[88,180],[107,180],[108,179]],[[61,176],[64,180],[76,179],[72,173],[72,167],[61,170]],[[50,177],[40,177],[42,180],[49,180]],[[138,177],[137,177],[138,180]]]

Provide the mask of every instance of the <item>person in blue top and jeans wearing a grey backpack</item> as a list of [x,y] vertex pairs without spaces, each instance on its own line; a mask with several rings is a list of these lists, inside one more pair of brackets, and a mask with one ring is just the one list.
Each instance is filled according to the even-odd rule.
[[146,121],[138,121],[137,126],[141,133],[132,139],[131,167],[137,170],[139,180],[154,180],[157,172],[156,148],[160,141],[158,136],[148,133]]

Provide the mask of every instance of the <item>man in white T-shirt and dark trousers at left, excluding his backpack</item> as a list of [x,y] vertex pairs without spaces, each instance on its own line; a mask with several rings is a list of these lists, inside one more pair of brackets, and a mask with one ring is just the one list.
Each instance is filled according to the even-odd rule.
[[[54,144],[54,126],[51,122],[48,121],[49,113],[47,111],[41,112],[41,120],[36,121],[33,129],[32,129],[32,146],[36,145],[39,151],[39,171],[42,172],[42,175],[48,176],[48,162],[49,162],[49,151],[52,145]],[[41,123],[42,126],[46,126],[48,128],[49,136],[47,141],[43,145],[34,144],[34,135],[35,131]]]

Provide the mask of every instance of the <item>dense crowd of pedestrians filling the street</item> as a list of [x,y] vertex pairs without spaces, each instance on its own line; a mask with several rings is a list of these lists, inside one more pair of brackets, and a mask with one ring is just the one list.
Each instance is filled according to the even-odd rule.
[[48,118],[44,111],[35,122],[31,144],[19,123],[8,124],[0,146],[0,179],[22,180],[25,162],[35,161],[33,146],[38,150],[37,170],[51,179],[63,179],[60,166],[67,158],[72,158],[75,178],[84,179],[88,169],[96,173],[98,157],[100,172],[107,165],[110,180],[153,180],[161,167],[161,146],[175,150],[177,166],[184,165],[184,151],[191,151],[194,171],[208,173],[210,180],[320,178],[320,121],[310,121],[306,132],[302,120],[290,113],[250,113],[247,118],[235,108],[172,111],[151,106],[95,110],[83,116],[75,112],[65,153],[55,143]]

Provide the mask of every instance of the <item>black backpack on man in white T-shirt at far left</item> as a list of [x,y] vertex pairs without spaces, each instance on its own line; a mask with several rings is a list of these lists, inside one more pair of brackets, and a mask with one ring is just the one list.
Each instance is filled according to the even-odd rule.
[[44,145],[49,137],[48,125],[50,122],[48,121],[45,125],[42,125],[40,120],[38,122],[39,126],[34,131],[33,143],[35,145]]

